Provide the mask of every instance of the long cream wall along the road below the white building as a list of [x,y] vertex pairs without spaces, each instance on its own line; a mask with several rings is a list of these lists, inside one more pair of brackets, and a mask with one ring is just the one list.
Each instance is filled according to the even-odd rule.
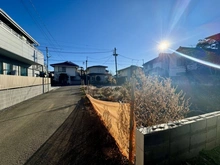
[[35,85],[0,90],[0,110],[51,90],[51,85]]

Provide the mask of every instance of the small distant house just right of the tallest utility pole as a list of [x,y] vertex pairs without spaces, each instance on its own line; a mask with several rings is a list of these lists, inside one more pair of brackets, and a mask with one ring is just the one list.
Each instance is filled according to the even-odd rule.
[[118,70],[117,84],[123,84],[126,81],[129,81],[130,78],[132,77],[133,72],[137,69],[142,69],[142,68],[136,65],[131,65],[127,68]]

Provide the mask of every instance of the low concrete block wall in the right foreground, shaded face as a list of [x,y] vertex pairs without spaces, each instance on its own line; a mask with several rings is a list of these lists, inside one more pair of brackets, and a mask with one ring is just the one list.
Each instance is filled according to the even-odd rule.
[[220,145],[220,111],[136,130],[136,164],[177,164]]

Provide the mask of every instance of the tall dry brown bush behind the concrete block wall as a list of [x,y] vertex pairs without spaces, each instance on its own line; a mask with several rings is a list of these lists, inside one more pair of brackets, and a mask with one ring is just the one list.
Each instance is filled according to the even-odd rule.
[[[171,80],[145,76],[136,70],[134,82],[134,113],[137,127],[152,126],[184,118],[189,111],[189,99],[172,86]],[[128,85],[131,87],[131,83]]]

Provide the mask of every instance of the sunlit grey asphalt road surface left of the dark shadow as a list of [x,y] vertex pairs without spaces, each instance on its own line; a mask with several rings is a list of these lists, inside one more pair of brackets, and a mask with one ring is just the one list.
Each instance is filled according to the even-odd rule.
[[61,87],[0,111],[0,165],[25,164],[74,111],[79,86]]

